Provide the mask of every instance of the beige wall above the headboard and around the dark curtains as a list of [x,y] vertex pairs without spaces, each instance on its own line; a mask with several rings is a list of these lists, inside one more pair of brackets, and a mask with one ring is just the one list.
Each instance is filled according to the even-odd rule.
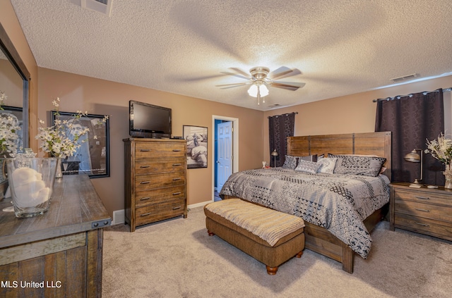
[[[263,117],[263,156],[270,161],[268,116],[298,112],[295,116],[295,135],[325,135],[349,132],[374,132],[376,103],[374,99],[395,97],[439,88],[452,87],[452,76],[415,82],[406,85],[362,92],[322,101],[267,111]],[[452,133],[451,93],[444,92],[444,125]]]

